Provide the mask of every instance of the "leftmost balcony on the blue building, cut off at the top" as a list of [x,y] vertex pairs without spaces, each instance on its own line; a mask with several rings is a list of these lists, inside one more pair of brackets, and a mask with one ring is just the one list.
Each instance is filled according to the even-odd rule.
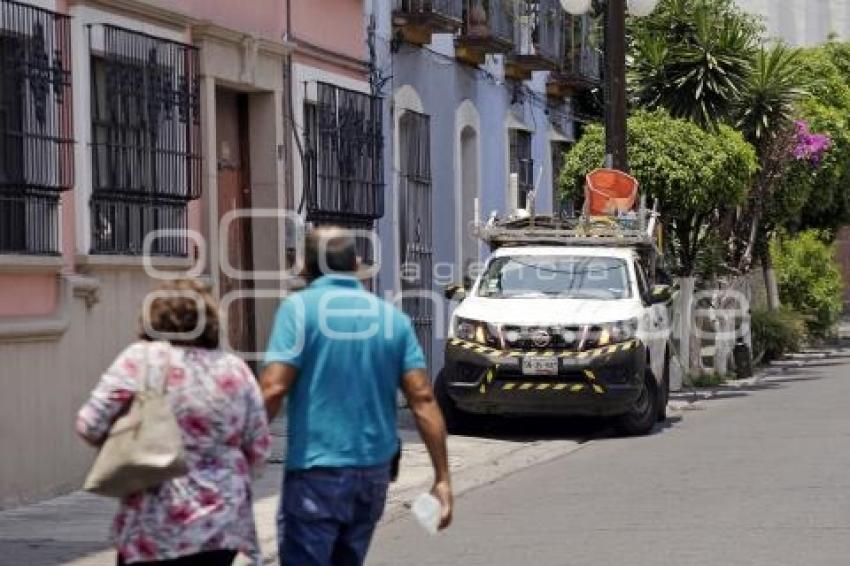
[[463,0],[394,0],[393,26],[411,43],[431,42],[434,33],[454,33],[463,23]]

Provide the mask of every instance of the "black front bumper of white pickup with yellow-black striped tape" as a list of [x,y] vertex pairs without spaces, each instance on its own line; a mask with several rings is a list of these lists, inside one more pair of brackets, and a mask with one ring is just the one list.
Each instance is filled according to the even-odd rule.
[[[524,375],[526,356],[554,357],[557,375]],[[633,340],[583,352],[506,351],[463,340],[446,345],[442,379],[463,411],[495,415],[616,416],[640,396],[646,348]]]

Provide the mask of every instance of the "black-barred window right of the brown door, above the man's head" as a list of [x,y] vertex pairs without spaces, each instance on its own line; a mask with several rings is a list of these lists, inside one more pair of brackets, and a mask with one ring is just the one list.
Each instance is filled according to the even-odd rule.
[[307,219],[384,215],[382,100],[326,83],[304,107]]

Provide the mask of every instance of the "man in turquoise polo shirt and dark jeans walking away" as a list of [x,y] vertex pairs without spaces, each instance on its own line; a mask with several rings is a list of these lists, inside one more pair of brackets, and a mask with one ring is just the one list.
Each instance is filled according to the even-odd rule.
[[289,397],[280,559],[359,565],[399,449],[399,388],[431,456],[441,528],[452,513],[446,430],[410,319],[360,284],[351,234],[319,228],[306,244],[313,282],[278,309],[261,376],[269,420]]

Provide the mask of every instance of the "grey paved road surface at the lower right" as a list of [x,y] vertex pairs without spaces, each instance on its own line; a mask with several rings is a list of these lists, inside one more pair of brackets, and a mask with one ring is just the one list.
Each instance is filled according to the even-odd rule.
[[369,564],[850,564],[850,358],[704,405],[470,492],[437,538],[386,525]]

